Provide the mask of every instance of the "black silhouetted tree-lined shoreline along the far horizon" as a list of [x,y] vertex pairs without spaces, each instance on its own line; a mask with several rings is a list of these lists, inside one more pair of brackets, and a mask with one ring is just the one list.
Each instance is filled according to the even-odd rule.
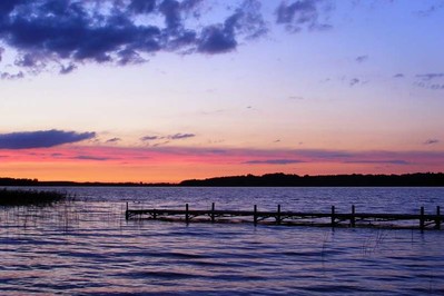
[[0,178],[1,186],[39,187],[443,187],[443,172],[416,172],[403,175],[326,175],[298,176],[266,174],[263,176],[227,176],[208,179],[190,179],[172,182],[76,182],[39,181],[38,179]]

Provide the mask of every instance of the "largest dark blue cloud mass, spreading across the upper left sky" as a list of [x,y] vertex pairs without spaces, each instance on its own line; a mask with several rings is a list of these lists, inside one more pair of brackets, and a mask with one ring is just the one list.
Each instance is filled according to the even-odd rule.
[[140,63],[159,51],[228,52],[239,40],[267,31],[258,0],[244,0],[234,10],[226,9],[221,23],[197,21],[203,2],[0,1],[0,42],[18,52],[14,65],[29,73],[39,73],[50,65],[67,65],[60,73],[69,73],[86,62]]

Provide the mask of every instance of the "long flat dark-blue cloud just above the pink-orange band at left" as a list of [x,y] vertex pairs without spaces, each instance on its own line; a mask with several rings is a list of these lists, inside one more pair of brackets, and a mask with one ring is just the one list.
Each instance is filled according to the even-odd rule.
[[48,148],[95,137],[96,132],[79,134],[57,129],[0,134],[0,149]]

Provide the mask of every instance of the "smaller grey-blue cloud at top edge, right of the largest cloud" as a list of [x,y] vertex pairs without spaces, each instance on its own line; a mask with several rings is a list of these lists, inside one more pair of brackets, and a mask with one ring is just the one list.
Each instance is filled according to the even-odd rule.
[[277,23],[285,24],[289,31],[297,32],[304,27],[309,30],[330,29],[332,26],[319,22],[319,10],[324,0],[298,0],[288,4],[280,2],[276,10]]

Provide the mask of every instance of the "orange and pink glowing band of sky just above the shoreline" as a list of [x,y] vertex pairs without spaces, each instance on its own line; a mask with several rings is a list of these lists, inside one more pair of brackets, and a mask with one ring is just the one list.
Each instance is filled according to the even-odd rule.
[[221,176],[443,171],[442,152],[58,147],[2,150],[2,177],[39,180],[179,182]]

